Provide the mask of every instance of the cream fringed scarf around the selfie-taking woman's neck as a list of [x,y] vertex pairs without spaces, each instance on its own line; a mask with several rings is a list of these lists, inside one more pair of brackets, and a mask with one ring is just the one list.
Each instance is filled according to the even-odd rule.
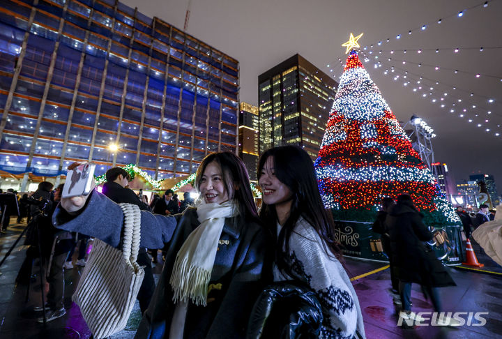
[[225,225],[225,218],[238,214],[232,200],[222,204],[197,203],[197,216],[201,223],[181,246],[169,280],[173,289],[173,301],[206,306],[208,283],[218,250],[218,241]]

